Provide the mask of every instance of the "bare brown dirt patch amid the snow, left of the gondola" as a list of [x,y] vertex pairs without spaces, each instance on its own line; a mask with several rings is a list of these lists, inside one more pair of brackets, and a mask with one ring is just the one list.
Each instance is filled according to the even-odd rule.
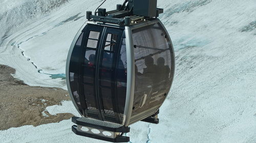
[[67,91],[59,88],[30,87],[13,78],[11,74],[14,73],[15,69],[0,65],[0,130],[56,123],[73,117],[71,113],[58,113],[54,116],[45,111],[47,106],[70,100]]

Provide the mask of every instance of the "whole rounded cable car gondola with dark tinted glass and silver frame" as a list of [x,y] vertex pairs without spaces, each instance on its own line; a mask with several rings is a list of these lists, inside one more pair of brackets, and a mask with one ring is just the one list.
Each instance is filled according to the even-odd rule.
[[77,135],[111,142],[138,121],[158,124],[174,78],[170,37],[157,18],[156,0],[125,1],[106,12],[87,12],[67,59],[67,87],[82,116],[73,117]]

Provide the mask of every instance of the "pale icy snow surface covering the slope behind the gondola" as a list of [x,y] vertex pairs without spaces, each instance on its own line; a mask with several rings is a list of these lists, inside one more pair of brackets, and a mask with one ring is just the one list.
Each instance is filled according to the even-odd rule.
[[[65,87],[69,46],[101,1],[1,1],[0,64],[30,85]],[[108,0],[114,9],[123,1]],[[256,142],[256,1],[158,1],[176,52],[173,87],[158,125],[131,126],[131,142]],[[47,110],[77,115],[71,101]],[[0,131],[0,142],[104,142],[70,120]]]

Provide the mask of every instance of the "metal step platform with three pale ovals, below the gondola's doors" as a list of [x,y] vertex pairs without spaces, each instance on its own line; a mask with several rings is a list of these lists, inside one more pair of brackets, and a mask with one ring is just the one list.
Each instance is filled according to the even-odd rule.
[[77,135],[110,142],[130,141],[130,137],[122,136],[123,133],[130,132],[130,127],[85,117],[72,117],[72,122],[77,124],[72,126],[72,131]]

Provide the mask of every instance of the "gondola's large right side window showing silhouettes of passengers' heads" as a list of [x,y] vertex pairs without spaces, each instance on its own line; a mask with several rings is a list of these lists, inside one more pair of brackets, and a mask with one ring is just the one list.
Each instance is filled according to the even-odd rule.
[[133,30],[133,42],[135,93],[132,116],[160,105],[172,79],[171,44],[159,23]]

